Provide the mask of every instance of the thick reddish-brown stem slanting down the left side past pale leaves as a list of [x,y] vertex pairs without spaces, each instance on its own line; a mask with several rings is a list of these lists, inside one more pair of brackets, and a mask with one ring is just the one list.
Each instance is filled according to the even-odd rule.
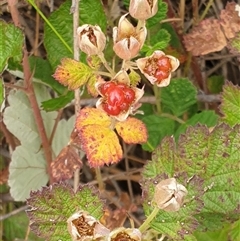
[[[10,13],[15,26],[21,27],[20,21],[19,21],[19,12],[16,7],[16,1],[8,0],[8,6],[9,6]],[[26,45],[24,45],[24,48],[23,48],[23,73],[24,73],[24,86],[26,88],[25,92],[28,96],[29,102],[33,110],[33,115],[36,121],[38,133],[42,142],[44,156],[47,162],[47,173],[49,175],[50,183],[52,184],[53,183],[53,177],[51,172],[52,150],[49,144],[49,140],[47,138],[47,133],[43,124],[42,115],[37,103],[36,95],[32,84],[32,73],[31,73],[31,69],[28,61],[28,53],[27,53]]]

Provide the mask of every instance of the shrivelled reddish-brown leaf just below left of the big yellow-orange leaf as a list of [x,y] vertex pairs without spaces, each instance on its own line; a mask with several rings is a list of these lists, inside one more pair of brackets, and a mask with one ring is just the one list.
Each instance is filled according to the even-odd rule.
[[51,163],[54,181],[64,181],[72,178],[76,169],[82,167],[82,161],[72,146],[64,147],[57,158]]

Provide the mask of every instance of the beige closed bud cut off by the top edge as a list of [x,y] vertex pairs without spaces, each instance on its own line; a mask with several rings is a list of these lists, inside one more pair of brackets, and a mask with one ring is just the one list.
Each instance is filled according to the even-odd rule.
[[145,20],[154,16],[158,11],[158,0],[131,0],[129,13],[132,17]]

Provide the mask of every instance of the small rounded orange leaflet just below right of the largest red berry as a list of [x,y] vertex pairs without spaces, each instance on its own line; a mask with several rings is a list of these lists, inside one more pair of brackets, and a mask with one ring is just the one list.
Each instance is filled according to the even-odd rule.
[[124,122],[118,122],[116,130],[128,144],[144,143],[148,138],[145,124],[136,118],[129,117]]

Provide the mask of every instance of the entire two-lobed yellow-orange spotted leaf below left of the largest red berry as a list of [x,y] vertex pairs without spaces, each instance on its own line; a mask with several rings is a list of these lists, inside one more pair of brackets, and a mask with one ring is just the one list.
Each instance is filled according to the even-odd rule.
[[111,118],[105,112],[95,108],[80,110],[76,128],[91,167],[116,163],[122,158],[118,137],[110,127]]

